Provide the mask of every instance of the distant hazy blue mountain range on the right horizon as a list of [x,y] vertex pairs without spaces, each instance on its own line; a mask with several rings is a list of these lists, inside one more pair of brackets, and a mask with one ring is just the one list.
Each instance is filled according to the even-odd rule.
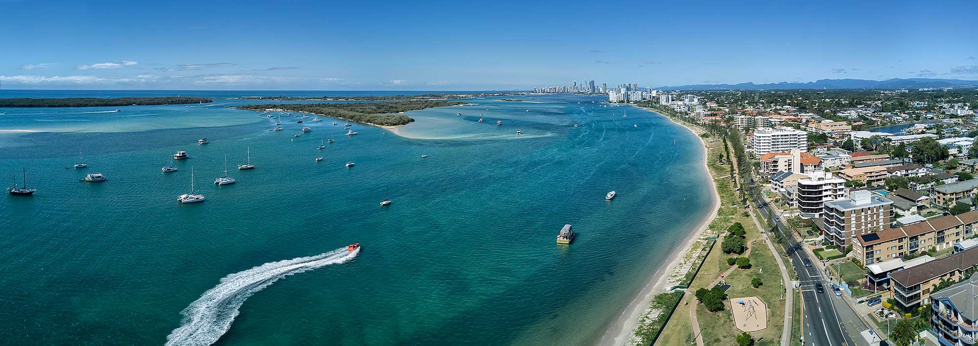
[[665,86],[659,90],[791,90],[791,89],[917,89],[945,87],[975,87],[978,80],[936,79],[936,78],[893,78],[887,80],[868,79],[819,79],[807,83],[770,84],[693,84]]

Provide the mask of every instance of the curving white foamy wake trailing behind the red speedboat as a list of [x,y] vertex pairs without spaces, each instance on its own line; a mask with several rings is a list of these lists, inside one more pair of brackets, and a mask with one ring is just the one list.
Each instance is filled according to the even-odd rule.
[[221,279],[184,309],[180,327],[166,336],[166,345],[210,345],[231,328],[238,309],[251,294],[292,274],[349,261],[360,253],[341,247],[309,257],[269,262]]

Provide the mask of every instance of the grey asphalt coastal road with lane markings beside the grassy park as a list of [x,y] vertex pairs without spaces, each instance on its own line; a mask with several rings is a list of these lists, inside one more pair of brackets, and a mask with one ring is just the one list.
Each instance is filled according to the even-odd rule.
[[[761,200],[758,204],[760,203],[764,203],[764,201]],[[762,218],[768,216],[768,212],[771,210],[769,208],[770,206],[767,204],[758,208]],[[774,213],[774,215],[778,215],[778,213]],[[847,330],[843,327],[842,320],[839,318],[840,314],[837,310],[843,310],[843,315],[845,316],[856,316],[856,312],[852,311],[852,308],[842,301],[841,298],[832,294],[831,282],[823,276],[822,271],[817,267],[822,264],[818,260],[814,260],[813,257],[809,258],[812,261],[812,267],[805,267],[804,259],[808,258],[808,253],[802,250],[802,246],[790,235],[790,228],[779,220],[777,227],[778,229],[772,229],[771,231],[782,232],[786,235],[785,238],[788,239],[789,248],[794,249],[789,251],[790,255],[788,258],[795,269],[795,273],[797,273],[797,281],[800,283],[802,293],[802,304],[805,312],[802,336],[805,338],[805,345],[842,345],[843,342],[846,345],[865,345],[865,341],[859,339],[859,343],[856,343],[856,339],[850,335],[858,335],[860,331],[867,329],[866,324],[856,319],[856,321],[852,322],[851,328],[859,330]],[[824,286],[824,292],[822,293],[819,293],[816,289],[816,283],[818,282],[822,282]],[[838,302],[835,302],[835,300],[838,300]]]

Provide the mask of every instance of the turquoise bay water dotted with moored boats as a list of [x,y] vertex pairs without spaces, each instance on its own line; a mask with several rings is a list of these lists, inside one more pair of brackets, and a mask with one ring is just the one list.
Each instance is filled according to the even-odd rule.
[[[256,94],[180,94],[218,93]],[[0,108],[0,177],[26,166],[38,189],[0,197],[0,338],[163,344],[194,303],[214,322],[199,336],[242,304],[219,345],[595,343],[708,213],[702,149],[639,108],[521,99],[411,111],[405,137],[290,116],[271,132],[220,106]],[[234,170],[247,148],[257,168]],[[66,169],[79,151],[89,168]],[[172,151],[191,158],[161,173]],[[225,155],[238,183],[216,187]],[[179,204],[191,167],[207,200]],[[556,244],[568,223],[578,238]]]

